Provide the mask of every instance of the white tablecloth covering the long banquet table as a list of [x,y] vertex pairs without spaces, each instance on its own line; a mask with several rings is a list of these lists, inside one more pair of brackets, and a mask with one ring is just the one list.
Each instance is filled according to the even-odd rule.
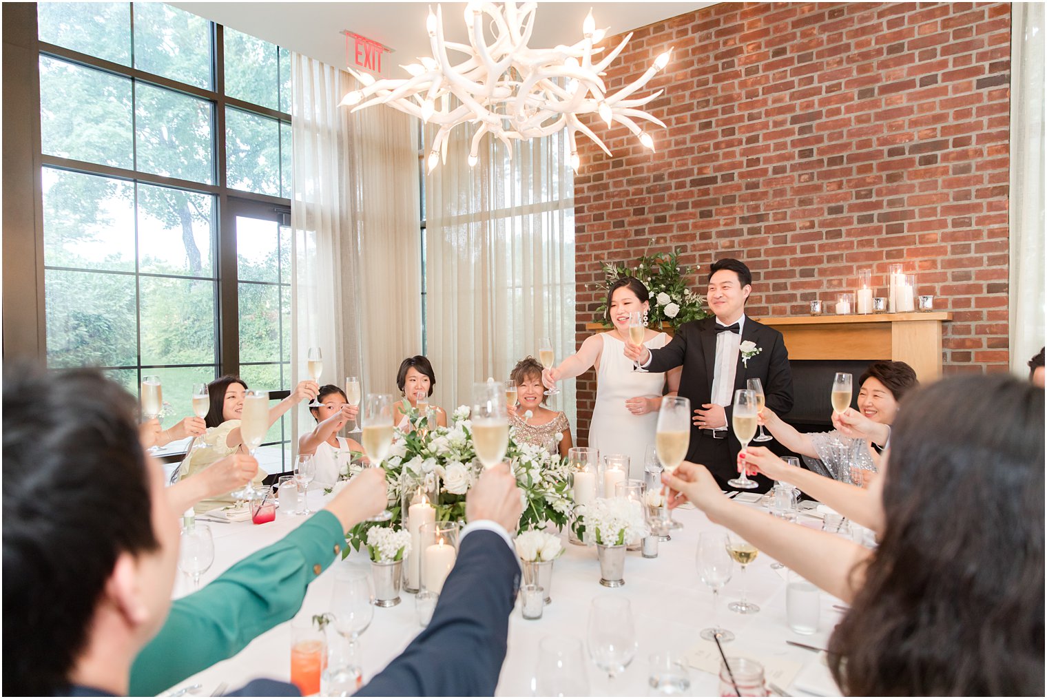
[[[310,492],[310,508],[319,510],[328,497],[318,490]],[[502,669],[497,696],[533,695],[532,681],[538,644],[542,637],[575,636],[584,648],[589,602],[598,594],[628,597],[636,619],[639,650],[625,673],[615,680],[614,686],[608,685],[607,678],[588,662],[586,656],[586,667],[579,670],[586,673],[593,696],[646,695],[648,656],[655,652],[671,650],[688,654],[703,646],[707,647],[707,651],[715,651],[713,644],[698,638],[698,631],[713,621],[713,596],[698,579],[695,550],[699,533],[719,527],[695,510],[676,510],[674,516],[684,528],[672,532],[672,540],[660,544],[655,559],[644,559],[640,551],[630,551],[625,564],[626,584],[621,588],[608,589],[600,585],[595,548],[565,545],[564,554],[555,564],[552,603],[545,606],[542,618],[524,619],[519,602],[511,615],[509,652]],[[277,512],[275,521],[262,525],[251,524],[249,520],[209,523],[215,538],[215,563],[203,574],[201,584],[214,580],[247,555],[277,541],[303,521],[303,517]],[[361,565],[369,564],[365,551],[354,553],[350,559]],[[760,660],[768,668],[768,673],[772,667],[782,667],[782,676],[789,679],[778,683],[789,694],[803,696],[806,693],[792,684],[792,678],[801,667],[820,660],[816,653],[789,646],[785,640],[825,648],[832,627],[841,618],[841,611],[834,608],[840,601],[823,592],[819,632],[814,635],[794,633],[785,618],[784,570],[772,569],[773,562],[765,555],[758,556],[744,573],[749,599],[760,606],[760,611],[741,615],[727,609],[727,603],[738,599],[741,589],[742,577],[736,565],[734,577],[720,593],[716,618],[720,626],[736,635],[735,640],[725,645],[728,655]],[[333,569],[334,566],[326,570],[309,587],[299,616],[319,614],[330,609]],[[179,576],[175,596],[186,594],[188,588],[188,581]],[[364,681],[384,668],[421,630],[414,595],[401,592],[401,600],[396,607],[376,608],[371,627],[360,638]],[[191,644],[193,639],[186,638],[185,642]],[[714,674],[692,667],[690,675],[692,695],[718,696],[718,679]],[[271,629],[235,657],[218,662],[176,686],[198,682],[202,685],[199,692],[210,693],[220,682],[227,682],[229,689],[236,689],[258,677],[289,679],[290,623]]]

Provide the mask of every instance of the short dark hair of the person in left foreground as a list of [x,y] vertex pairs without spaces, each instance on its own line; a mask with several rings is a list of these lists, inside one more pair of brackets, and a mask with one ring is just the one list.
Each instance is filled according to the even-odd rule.
[[159,545],[136,414],[94,369],[4,371],[6,693],[67,692],[116,559]]

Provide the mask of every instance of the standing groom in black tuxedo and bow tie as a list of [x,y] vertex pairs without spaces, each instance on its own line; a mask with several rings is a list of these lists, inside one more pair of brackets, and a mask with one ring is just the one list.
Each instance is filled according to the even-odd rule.
[[[747,379],[759,379],[766,406],[783,414],[793,407],[793,375],[782,334],[745,317],[745,299],[753,290],[753,275],[731,257],[709,268],[709,308],[715,317],[684,323],[672,341],[661,350],[626,342],[625,356],[652,371],[680,365],[680,394],[691,400],[694,418],[687,460],[704,464],[721,489],[738,475],[741,444],[731,429],[734,391]],[[752,344],[750,344],[752,343]],[[764,476],[751,476],[758,492],[771,487]]]

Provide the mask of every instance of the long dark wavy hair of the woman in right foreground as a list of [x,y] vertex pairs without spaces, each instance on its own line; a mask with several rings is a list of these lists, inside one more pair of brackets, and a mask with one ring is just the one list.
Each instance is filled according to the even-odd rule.
[[906,399],[883,541],[829,641],[845,696],[1044,695],[1043,426],[1043,389],[1006,375]]

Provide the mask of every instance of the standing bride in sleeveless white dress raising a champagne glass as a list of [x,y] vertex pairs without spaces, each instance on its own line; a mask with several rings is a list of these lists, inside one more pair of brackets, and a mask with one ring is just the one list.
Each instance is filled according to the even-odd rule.
[[[644,455],[654,444],[658,410],[663,393],[675,396],[680,387],[682,367],[667,373],[637,371],[625,358],[625,340],[629,337],[629,314],[640,311],[646,316],[650,306],[644,284],[631,276],[622,277],[607,293],[607,320],[614,330],[585,339],[577,353],[560,365],[545,369],[542,380],[552,387],[557,381],[571,379],[596,366],[596,406],[589,423],[588,446],[600,450],[600,456],[624,454],[629,457],[629,477],[643,479]],[[664,347],[669,336],[652,330],[644,332],[644,344],[651,350]]]

